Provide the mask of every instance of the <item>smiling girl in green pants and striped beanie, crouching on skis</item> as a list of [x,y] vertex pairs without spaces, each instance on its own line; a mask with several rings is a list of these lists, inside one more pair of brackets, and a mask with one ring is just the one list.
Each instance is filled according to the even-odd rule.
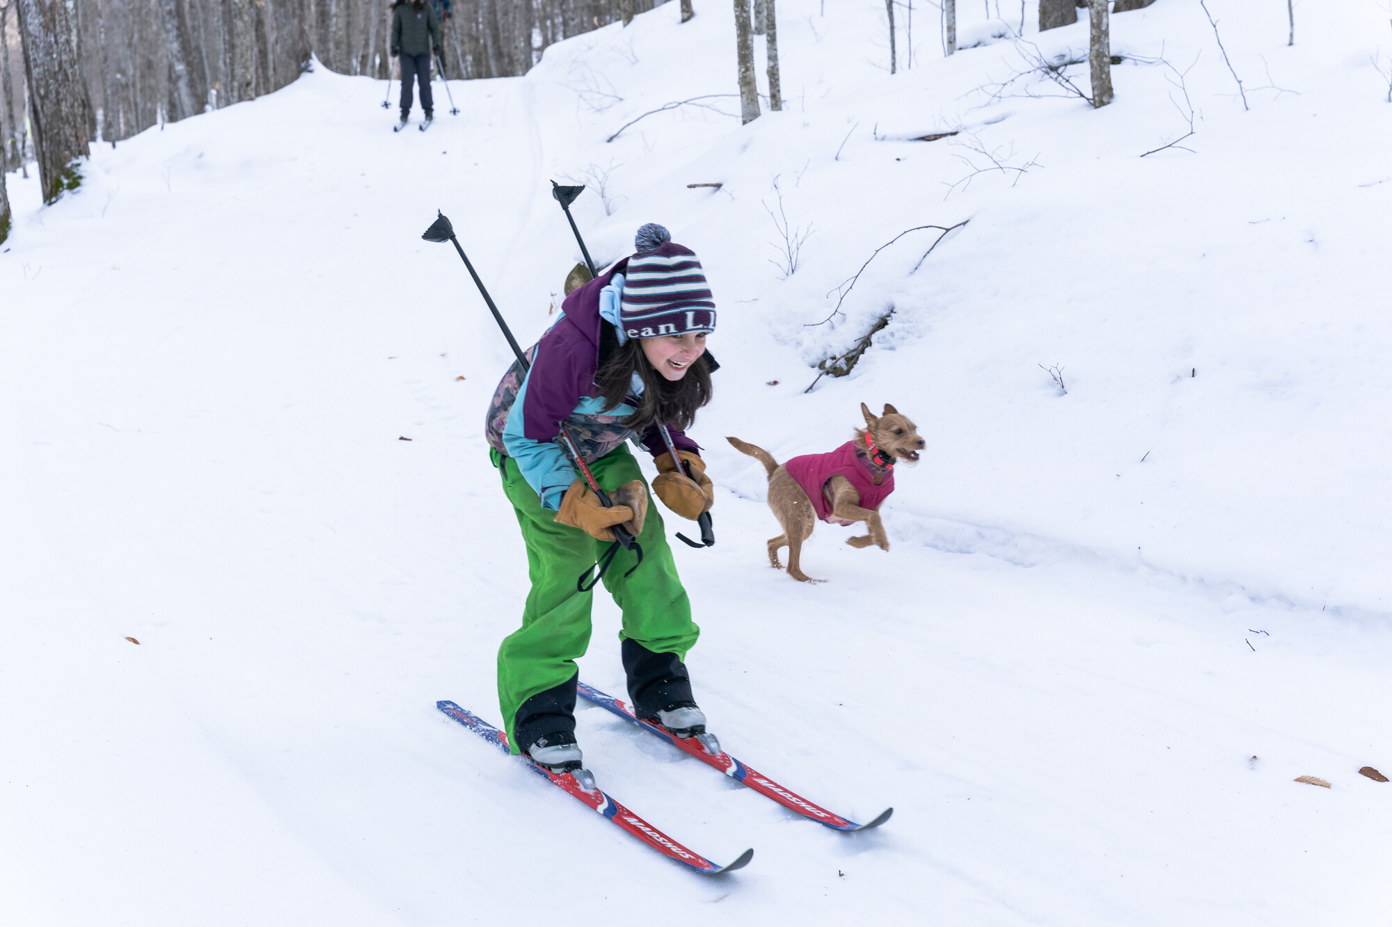
[[[624,611],[624,671],[640,718],[678,736],[704,734],[685,657],[700,629],[677,576],[663,519],[626,447],[642,441],[657,462],[653,491],[682,518],[710,508],[700,445],[685,430],[711,397],[715,330],[700,260],[657,224],[638,230],[636,253],[565,298],[561,319],[514,362],[489,405],[490,457],[526,541],[532,590],[522,626],[498,649],[498,700],[514,753],[557,772],[582,768],[575,740],[576,658],[590,640],[592,593],[578,576],[612,558],[604,587]],[[682,475],[663,440],[671,430]],[[557,438],[564,430],[614,505],[576,477]],[[622,550],[614,526],[638,539]]]

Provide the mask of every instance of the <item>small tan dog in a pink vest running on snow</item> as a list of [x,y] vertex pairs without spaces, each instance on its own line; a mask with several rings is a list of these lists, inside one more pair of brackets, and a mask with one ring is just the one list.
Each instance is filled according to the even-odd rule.
[[864,402],[860,412],[866,416],[866,427],[856,429],[855,440],[831,454],[795,457],[784,465],[761,447],[725,438],[768,470],[768,508],[784,529],[768,540],[768,562],[782,569],[778,548],[788,547],[788,575],[799,582],[821,582],[803,573],[799,562],[802,543],[812,536],[817,518],[838,525],[864,522],[870,533],[846,539],[846,543],[889,550],[880,522],[880,504],[894,491],[895,462],[917,462],[924,441],[913,422],[889,404],[880,418],[871,415]]

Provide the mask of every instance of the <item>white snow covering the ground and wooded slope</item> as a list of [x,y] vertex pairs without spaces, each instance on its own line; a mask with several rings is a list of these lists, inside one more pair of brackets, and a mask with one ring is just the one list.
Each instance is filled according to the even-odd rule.
[[[734,90],[728,4],[677,7],[451,84],[458,117],[437,88],[425,135],[319,70],[95,146],[52,207],[7,178],[0,924],[1392,924],[1392,784],[1357,774],[1392,774],[1386,11],[1297,6],[1286,47],[1283,4],[1210,3],[1244,110],[1199,4],[1157,0],[1112,19],[1094,111],[992,100],[1023,65],[970,4],[980,46],[944,60],[916,8],[891,77],[883,4],[782,0],[784,113],[606,142]],[[1141,159],[1189,131],[1158,57],[1194,135]],[[500,721],[526,573],[482,437],[508,349],[419,235],[443,209],[526,342],[579,259],[548,181],[606,171],[612,214],[576,203],[594,256],[661,221],[721,308],[693,431],[718,543],[675,547],[702,706],[807,798],[895,807],[824,831],[582,711],[610,792],[717,862],[756,849],[715,880],[434,708]],[[813,227],[786,280],[778,191]],[[963,220],[834,313],[874,249]],[[820,526],[828,582],[793,583],[722,436],[830,450],[862,401],[928,452],[889,553]],[[582,678],[619,693],[594,611]]]

